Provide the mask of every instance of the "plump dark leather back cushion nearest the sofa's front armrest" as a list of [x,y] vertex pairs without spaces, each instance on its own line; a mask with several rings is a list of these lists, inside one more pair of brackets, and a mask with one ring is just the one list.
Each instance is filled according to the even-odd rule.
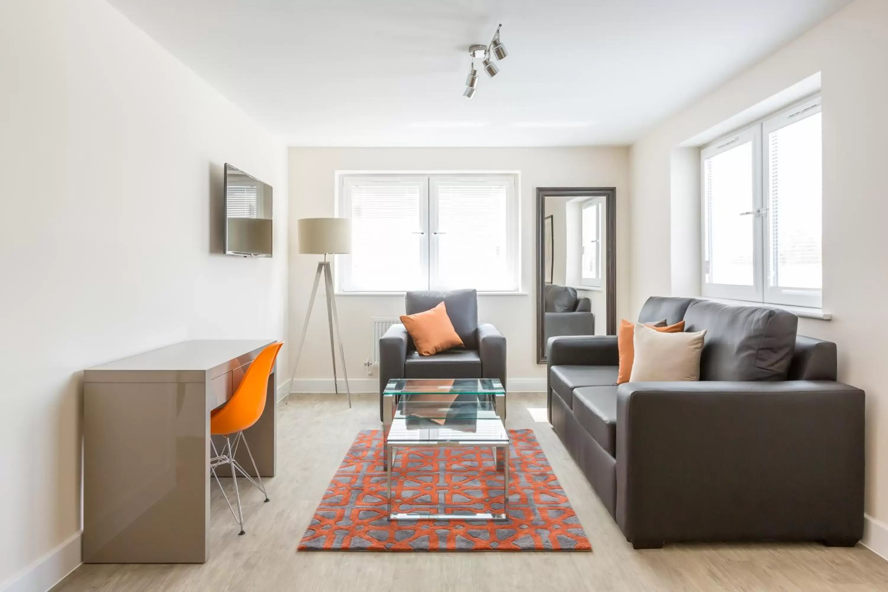
[[796,346],[798,318],[764,306],[694,300],[685,330],[706,329],[700,380],[786,380]]

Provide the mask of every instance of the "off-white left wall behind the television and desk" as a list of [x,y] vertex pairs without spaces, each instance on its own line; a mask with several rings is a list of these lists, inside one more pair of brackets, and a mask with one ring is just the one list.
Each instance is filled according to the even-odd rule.
[[[274,258],[210,253],[224,162],[274,185]],[[0,589],[46,589],[79,561],[81,370],[284,336],[286,148],[108,4],[4,2],[0,178]]]

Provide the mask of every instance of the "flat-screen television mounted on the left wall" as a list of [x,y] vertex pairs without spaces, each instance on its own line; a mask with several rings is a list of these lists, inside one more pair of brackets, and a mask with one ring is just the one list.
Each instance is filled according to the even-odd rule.
[[225,253],[272,256],[272,186],[225,165]]

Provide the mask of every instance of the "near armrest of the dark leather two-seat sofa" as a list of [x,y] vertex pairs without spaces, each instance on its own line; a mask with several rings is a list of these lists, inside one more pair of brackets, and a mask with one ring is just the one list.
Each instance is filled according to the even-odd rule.
[[857,541],[864,392],[830,381],[624,383],[616,518],[629,541]]

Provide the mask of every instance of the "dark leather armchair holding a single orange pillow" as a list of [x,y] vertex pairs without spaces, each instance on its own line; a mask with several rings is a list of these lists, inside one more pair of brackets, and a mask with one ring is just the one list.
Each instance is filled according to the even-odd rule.
[[392,378],[499,378],[505,387],[505,337],[493,325],[478,322],[478,294],[473,289],[408,292],[407,314],[428,311],[441,302],[464,347],[421,356],[407,329],[392,325],[379,340],[379,418],[382,393]]

